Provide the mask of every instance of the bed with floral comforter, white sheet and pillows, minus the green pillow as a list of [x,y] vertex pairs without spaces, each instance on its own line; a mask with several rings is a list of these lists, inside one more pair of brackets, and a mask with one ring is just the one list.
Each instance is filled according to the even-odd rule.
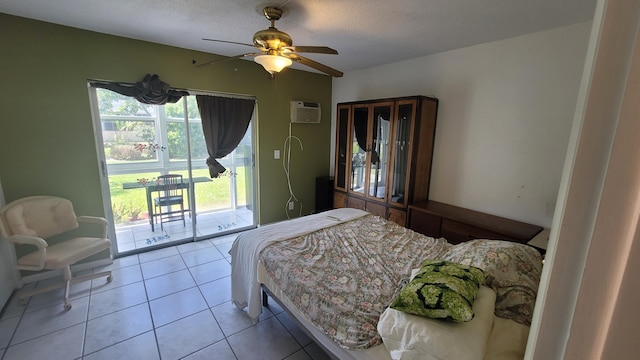
[[[358,360],[522,359],[542,267],[527,245],[452,245],[350,208],[242,233],[230,254],[232,300],[252,320],[264,291],[331,357]],[[434,264],[481,270],[471,320],[390,306]]]

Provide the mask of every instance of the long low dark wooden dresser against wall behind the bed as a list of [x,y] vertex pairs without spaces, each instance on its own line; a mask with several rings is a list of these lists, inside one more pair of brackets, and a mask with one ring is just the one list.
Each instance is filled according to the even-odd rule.
[[472,239],[508,240],[526,244],[542,227],[453,205],[426,200],[409,205],[407,227],[452,244]]

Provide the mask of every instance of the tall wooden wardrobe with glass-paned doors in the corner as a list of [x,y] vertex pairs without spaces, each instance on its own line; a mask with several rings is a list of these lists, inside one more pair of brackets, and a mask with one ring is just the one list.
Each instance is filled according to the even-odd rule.
[[408,206],[429,197],[437,113],[426,96],[338,104],[333,206],[406,226]]

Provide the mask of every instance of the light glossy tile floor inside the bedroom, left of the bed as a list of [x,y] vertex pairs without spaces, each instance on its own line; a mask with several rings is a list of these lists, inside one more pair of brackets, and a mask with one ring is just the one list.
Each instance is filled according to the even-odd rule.
[[235,236],[118,258],[111,283],[72,286],[69,311],[62,289],[25,306],[14,296],[0,317],[1,358],[328,359],[274,301],[257,324],[231,303]]

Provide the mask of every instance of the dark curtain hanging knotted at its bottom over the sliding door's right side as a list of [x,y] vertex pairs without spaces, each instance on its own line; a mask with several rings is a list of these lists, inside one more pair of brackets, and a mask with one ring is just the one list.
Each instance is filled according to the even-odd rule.
[[255,100],[196,95],[196,101],[209,152],[209,175],[216,178],[227,170],[216,159],[227,156],[244,137],[253,116]]

